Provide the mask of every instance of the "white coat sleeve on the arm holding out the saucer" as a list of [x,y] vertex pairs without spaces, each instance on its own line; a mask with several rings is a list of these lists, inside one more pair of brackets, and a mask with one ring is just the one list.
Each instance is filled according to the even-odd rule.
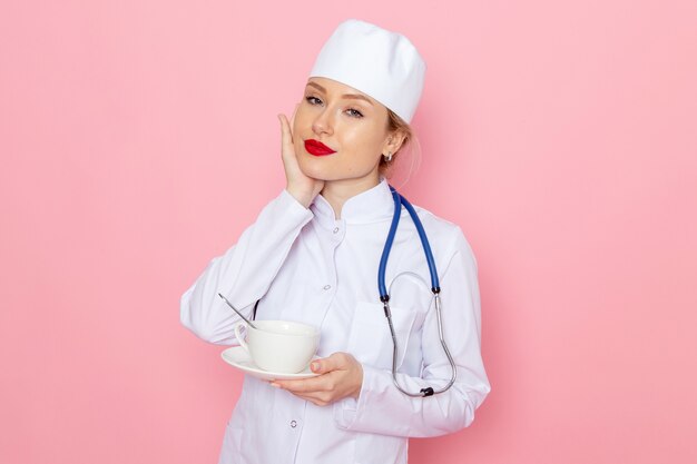
[[[411,397],[393,384],[392,372],[363,366],[359,399],[334,404],[334,419],[345,430],[392,436],[428,437],[469,426],[491,391],[481,357],[481,309],[477,261],[458,228],[454,253],[441,278],[443,338],[457,365],[457,381],[444,393]],[[438,336],[435,309],[431,307],[421,332],[421,377],[396,374],[408,392],[440,389],[452,369]]]

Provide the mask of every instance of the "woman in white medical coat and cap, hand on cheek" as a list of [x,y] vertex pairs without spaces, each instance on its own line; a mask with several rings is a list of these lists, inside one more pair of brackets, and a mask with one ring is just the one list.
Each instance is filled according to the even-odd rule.
[[181,323],[210,343],[237,344],[240,319],[218,293],[248,318],[321,329],[321,358],[311,365],[320,375],[245,377],[222,464],[405,463],[408,437],[468,426],[489,393],[474,256],[458,226],[419,207],[442,325],[422,241],[401,209],[385,268],[399,348],[393,373],[376,280],[395,211],[384,172],[412,138],[424,72],[404,36],[341,23],[291,122],[278,116],[286,188],[183,295]]

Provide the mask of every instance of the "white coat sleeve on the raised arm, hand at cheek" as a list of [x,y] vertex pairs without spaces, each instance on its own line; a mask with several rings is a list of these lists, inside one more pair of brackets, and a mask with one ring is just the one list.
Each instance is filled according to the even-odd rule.
[[284,189],[264,207],[238,243],[214,258],[181,295],[181,324],[206,342],[234,344],[233,328],[240,318],[218,297],[218,292],[235,308],[251,315],[312,217],[312,211]]

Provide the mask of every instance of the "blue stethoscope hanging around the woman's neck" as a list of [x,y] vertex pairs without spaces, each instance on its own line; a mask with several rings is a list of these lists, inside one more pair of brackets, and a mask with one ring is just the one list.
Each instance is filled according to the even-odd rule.
[[[445,340],[443,339],[443,324],[441,320],[441,287],[438,279],[438,272],[435,270],[435,260],[433,259],[433,253],[431,253],[431,246],[429,245],[429,238],[426,237],[426,233],[423,229],[423,225],[421,224],[421,219],[416,215],[414,207],[401,196],[396,189],[390,186],[390,191],[392,192],[392,198],[394,199],[394,215],[392,216],[392,225],[390,226],[390,233],[387,234],[387,239],[385,241],[385,247],[382,250],[382,257],[380,258],[380,268],[377,270],[377,288],[380,290],[380,300],[383,304],[383,308],[385,310],[385,316],[387,317],[387,324],[390,325],[390,333],[392,334],[392,382],[394,386],[397,387],[400,392],[409,396],[432,396],[439,393],[445,392],[450,388],[458,377],[458,369],[455,367],[455,362],[450,355],[450,351],[445,345]],[[431,274],[431,292],[433,293],[433,299],[435,303],[435,315],[438,318],[438,333],[441,339],[441,345],[443,346],[443,351],[448,356],[448,361],[450,362],[450,367],[452,369],[452,375],[450,382],[441,389],[433,389],[433,387],[421,388],[419,393],[411,393],[403,389],[396,381],[396,357],[397,357],[397,344],[396,336],[394,335],[394,326],[392,325],[392,312],[390,310],[390,293],[387,292],[387,287],[385,286],[385,269],[387,267],[387,258],[390,257],[390,250],[392,249],[392,243],[394,241],[394,236],[396,234],[396,228],[400,224],[400,216],[402,214],[402,205],[409,211],[409,215],[416,227],[416,231],[419,233],[419,238],[421,239],[421,245],[423,247],[423,253],[426,256],[426,263],[429,264],[429,273]],[[402,273],[402,274],[412,274],[413,273]],[[415,276],[415,275],[414,275]],[[392,279],[392,283],[396,279],[395,276]],[[418,276],[416,276],[418,277]],[[420,278],[420,277],[419,277]],[[422,279],[423,282],[423,279]],[[425,284],[425,283],[424,283]],[[390,285],[392,287],[392,284]]]

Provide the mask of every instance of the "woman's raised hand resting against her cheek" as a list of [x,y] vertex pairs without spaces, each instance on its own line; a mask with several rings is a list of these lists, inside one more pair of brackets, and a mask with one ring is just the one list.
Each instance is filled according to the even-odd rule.
[[291,122],[288,122],[285,115],[278,115],[278,120],[281,121],[281,157],[283,159],[283,168],[285,169],[286,190],[307,208],[317,194],[322,191],[322,188],[324,188],[324,180],[307,177],[297,164],[292,131],[296,111],[297,105],[293,111]]

